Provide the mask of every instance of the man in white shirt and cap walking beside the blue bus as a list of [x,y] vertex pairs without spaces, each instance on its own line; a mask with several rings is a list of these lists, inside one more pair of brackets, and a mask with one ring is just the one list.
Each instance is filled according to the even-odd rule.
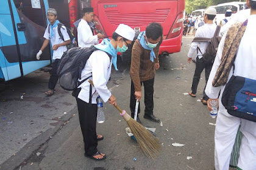
[[51,70],[51,77],[49,80],[48,88],[49,90],[47,92],[44,92],[44,94],[51,96],[54,94],[55,86],[57,84],[57,81],[59,80],[59,76],[57,75],[57,66],[60,61],[60,58],[62,58],[63,52],[67,50],[66,46],[70,44],[71,40],[69,38],[68,32],[66,31],[66,27],[63,25],[62,29],[60,29],[60,32],[62,32],[63,39],[60,38],[60,35],[58,33],[58,24],[60,23],[59,20],[57,20],[57,11],[55,9],[48,9],[47,11],[47,17],[50,22],[48,24],[45,32],[44,32],[44,42],[41,46],[41,49],[37,53],[37,60],[40,60],[40,56],[43,53],[43,50],[48,46],[49,41],[51,40],[51,46],[53,50],[53,56],[52,59],[55,60],[52,64],[52,70]]

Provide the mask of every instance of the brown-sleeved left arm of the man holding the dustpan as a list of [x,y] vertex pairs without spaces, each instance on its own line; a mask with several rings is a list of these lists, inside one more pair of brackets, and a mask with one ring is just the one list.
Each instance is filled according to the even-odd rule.
[[130,63],[130,78],[132,78],[132,82],[135,88],[135,98],[141,98],[141,86],[140,86],[140,56],[142,53],[140,45],[135,43],[132,47],[132,61]]

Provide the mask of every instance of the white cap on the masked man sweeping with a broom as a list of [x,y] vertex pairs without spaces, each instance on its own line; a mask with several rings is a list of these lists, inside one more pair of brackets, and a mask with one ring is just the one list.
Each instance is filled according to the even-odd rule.
[[129,39],[130,41],[133,41],[135,36],[135,30],[125,24],[119,24],[115,32],[118,35],[123,36],[123,38]]

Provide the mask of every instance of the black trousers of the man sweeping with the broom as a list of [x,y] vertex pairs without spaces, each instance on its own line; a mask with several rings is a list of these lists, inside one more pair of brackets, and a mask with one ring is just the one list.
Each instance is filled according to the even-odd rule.
[[85,154],[88,156],[98,152],[97,136],[96,136],[96,118],[98,107],[97,104],[91,106],[85,101],[76,98],[77,108],[79,113],[79,121],[81,131],[84,137]]

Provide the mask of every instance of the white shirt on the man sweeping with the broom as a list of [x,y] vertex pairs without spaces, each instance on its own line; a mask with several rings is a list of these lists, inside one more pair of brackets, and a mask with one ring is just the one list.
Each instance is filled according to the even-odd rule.
[[[81,80],[92,77],[90,80],[93,81],[94,87],[92,87],[91,103],[96,104],[96,98],[98,95],[104,102],[107,102],[111,96],[110,91],[107,89],[107,82],[110,78],[112,60],[110,61],[107,53],[102,50],[94,51],[90,58],[87,60],[84,69],[82,70]],[[79,87],[82,87],[78,98],[80,100],[89,103],[90,94],[90,83],[85,81]]]

